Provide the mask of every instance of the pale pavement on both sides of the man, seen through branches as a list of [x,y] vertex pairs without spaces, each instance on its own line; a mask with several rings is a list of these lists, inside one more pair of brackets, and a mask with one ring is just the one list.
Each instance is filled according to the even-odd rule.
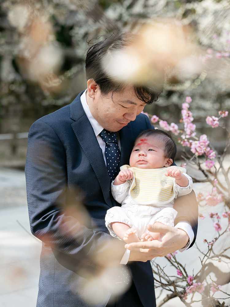
[[[195,192],[204,192],[210,190],[210,185],[196,183],[194,189]],[[0,307],[35,307],[41,243],[30,233],[24,172],[0,168],[0,192]],[[207,216],[211,211],[221,214],[221,210],[221,205],[217,205],[214,208],[206,207],[201,212]],[[196,242],[201,249],[204,248],[203,239],[213,239],[214,235],[211,219],[207,217],[199,220]],[[228,235],[223,238],[218,249],[221,250],[229,245]],[[177,254],[178,261],[186,263],[186,270],[190,275],[193,268],[194,273],[200,268],[198,256],[196,247]],[[167,265],[164,271],[167,271],[168,275],[176,275],[175,269],[168,266],[165,258],[158,257],[157,263],[162,266]],[[215,265],[218,265],[223,272],[229,272],[228,265],[223,262],[215,262]],[[215,280],[215,276],[212,277]],[[229,293],[230,286],[224,286],[223,290]],[[156,290],[156,293],[159,294],[159,291]],[[166,294],[162,293],[158,301],[160,302]],[[184,305],[178,298],[164,304],[164,307],[174,306]],[[200,306],[198,304],[196,307]]]

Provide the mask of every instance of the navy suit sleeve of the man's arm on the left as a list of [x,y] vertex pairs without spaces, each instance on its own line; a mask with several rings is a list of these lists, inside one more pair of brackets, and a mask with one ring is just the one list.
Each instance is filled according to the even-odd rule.
[[29,130],[25,175],[33,235],[52,247],[59,262],[69,269],[76,271],[83,262],[92,266],[94,253],[103,253],[105,240],[114,238],[88,229],[76,216],[65,213],[65,149],[53,128],[40,120]]

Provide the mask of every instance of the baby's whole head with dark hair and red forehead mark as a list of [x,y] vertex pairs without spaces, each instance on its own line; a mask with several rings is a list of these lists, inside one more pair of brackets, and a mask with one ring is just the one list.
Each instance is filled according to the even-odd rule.
[[136,138],[129,165],[141,169],[168,167],[175,159],[176,150],[176,144],[167,132],[144,130]]

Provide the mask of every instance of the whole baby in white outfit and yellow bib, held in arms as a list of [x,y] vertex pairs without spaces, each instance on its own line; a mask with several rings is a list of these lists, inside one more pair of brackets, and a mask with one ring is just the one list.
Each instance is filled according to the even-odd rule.
[[121,166],[111,184],[113,197],[121,204],[110,208],[105,216],[113,237],[126,243],[151,241],[159,234],[150,236],[148,224],[174,226],[174,198],[189,194],[193,184],[186,169],[171,166],[175,155],[175,142],[162,130],[145,130],[137,137],[130,165]]

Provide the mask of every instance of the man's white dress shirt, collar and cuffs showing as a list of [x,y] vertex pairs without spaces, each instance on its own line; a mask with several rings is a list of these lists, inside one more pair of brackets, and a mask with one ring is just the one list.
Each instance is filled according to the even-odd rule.
[[[103,154],[105,165],[106,165],[106,160],[105,160],[105,142],[102,140],[102,138],[99,135],[104,128],[96,121],[96,119],[93,117],[93,115],[90,112],[90,108],[89,108],[87,100],[86,100],[86,91],[87,90],[85,90],[82,93],[82,95],[81,95],[82,107],[83,107],[83,109],[84,109],[84,111],[86,113],[87,118],[90,121],[91,126],[93,127],[94,133],[95,133],[96,138],[97,138],[98,143],[99,143],[99,146],[102,149],[102,154]],[[118,136],[118,146],[121,149],[121,143],[120,143],[119,136]],[[188,223],[186,221],[179,222],[174,227],[175,228],[180,228],[180,229],[184,230],[187,233],[187,235],[189,236],[189,242],[187,243],[187,245],[179,250],[179,251],[185,251],[186,249],[188,249],[190,247],[190,244],[193,242],[193,239],[194,239],[193,229],[192,229],[190,223]],[[121,264],[127,264],[128,258],[129,258],[129,254],[130,254],[130,251],[126,250],[124,256],[121,259]]]

